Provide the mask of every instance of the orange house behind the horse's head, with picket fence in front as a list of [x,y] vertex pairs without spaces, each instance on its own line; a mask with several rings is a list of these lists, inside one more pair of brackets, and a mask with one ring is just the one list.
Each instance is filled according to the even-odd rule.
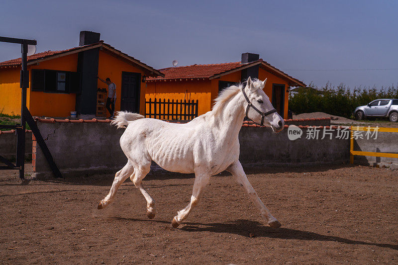
[[171,67],[159,71],[164,76],[146,79],[146,100],[198,100],[198,115],[211,110],[220,90],[244,82],[250,76],[260,80],[267,78],[264,91],[278,113],[287,118],[289,87],[305,87],[301,81],[251,53],[242,54],[242,60],[235,63]]

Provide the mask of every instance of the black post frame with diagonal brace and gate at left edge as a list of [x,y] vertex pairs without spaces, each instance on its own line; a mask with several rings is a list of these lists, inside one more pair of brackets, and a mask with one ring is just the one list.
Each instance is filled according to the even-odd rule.
[[25,127],[26,123],[32,130],[33,135],[36,138],[45,158],[55,177],[62,177],[54,159],[48,150],[43,137],[40,134],[39,128],[34,121],[29,109],[26,107],[26,89],[29,88],[29,71],[27,70],[27,52],[28,45],[36,45],[36,40],[27,39],[16,39],[8,37],[0,37],[0,42],[17,43],[21,44],[21,75],[20,75],[20,88],[21,92],[21,124],[17,125],[0,125],[0,128],[15,129],[17,134],[17,147],[16,147],[16,159],[15,165],[9,162],[7,159],[0,155],[0,162],[5,164],[5,166],[0,166],[0,170],[19,170],[19,178],[24,179],[25,172]]

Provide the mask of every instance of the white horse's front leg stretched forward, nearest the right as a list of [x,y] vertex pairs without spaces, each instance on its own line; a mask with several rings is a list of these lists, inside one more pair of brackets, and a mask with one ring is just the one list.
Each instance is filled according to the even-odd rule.
[[254,202],[256,207],[260,210],[261,216],[267,221],[268,225],[271,227],[280,227],[281,223],[272,216],[270,210],[265,207],[264,203],[261,201],[257,192],[254,190],[249,180],[246,177],[245,172],[243,171],[242,165],[239,160],[232,163],[227,169],[234,177],[235,180],[243,186],[244,190],[249,194],[250,199]]

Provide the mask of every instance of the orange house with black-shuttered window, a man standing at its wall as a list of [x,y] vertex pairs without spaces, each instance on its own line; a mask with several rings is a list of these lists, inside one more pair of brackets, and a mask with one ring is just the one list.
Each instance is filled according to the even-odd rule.
[[[26,104],[33,116],[95,115],[97,90],[110,78],[116,85],[115,110],[145,112],[145,77],[162,73],[100,41],[100,33],[80,32],[79,47],[28,56]],[[0,112],[21,110],[21,59],[0,63]]]

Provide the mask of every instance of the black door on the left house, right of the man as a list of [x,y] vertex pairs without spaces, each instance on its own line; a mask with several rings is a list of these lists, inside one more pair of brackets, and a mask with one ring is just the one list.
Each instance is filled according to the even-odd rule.
[[127,110],[134,113],[140,112],[140,84],[141,74],[121,73],[120,110]]

